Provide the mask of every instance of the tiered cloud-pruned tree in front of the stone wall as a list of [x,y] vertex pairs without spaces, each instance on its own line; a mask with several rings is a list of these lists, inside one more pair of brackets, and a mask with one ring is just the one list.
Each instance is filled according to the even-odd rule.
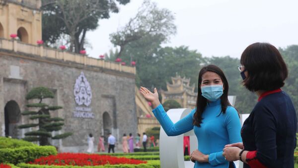
[[30,128],[30,127],[38,127],[38,130],[30,131],[25,133],[25,138],[23,140],[26,141],[39,141],[40,145],[50,145],[48,138],[52,139],[62,139],[72,135],[71,132],[59,134],[52,137],[53,131],[59,131],[62,129],[64,125],[64,119],[60,117],[51,117],[50,112],[62,109],[61,106],[50,106],[42,101],[44,99],[53,99],[54,93],[45,87],[36,87],[33,88],[27,95],[26,100],[39,100],[39,103],[32,103],[26,105],[29,109],[34,109],[36,111],[25,111],[22,112],[22,115],[30,115],[31,120],[38,120],[38,122],[19,125],[19,129]]

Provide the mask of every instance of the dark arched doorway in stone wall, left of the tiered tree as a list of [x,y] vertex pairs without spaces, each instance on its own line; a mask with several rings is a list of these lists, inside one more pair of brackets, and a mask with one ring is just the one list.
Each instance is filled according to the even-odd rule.
[[17,124],[20,120],[20,113],[20,108],[15,101],[11,100],[6,103],[4,107],[5,136],[18,138]]

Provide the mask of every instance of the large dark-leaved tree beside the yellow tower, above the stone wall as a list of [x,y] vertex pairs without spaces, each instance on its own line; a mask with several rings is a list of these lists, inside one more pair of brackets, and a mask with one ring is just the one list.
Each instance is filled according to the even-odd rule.
[[99,19],[119,11],[117,2],[126,4],[130,0],[42,0],[42,39],[47,44],[67,40],[71,51],[74,48],[79,53],[84,49],[86,32],[95,30]]

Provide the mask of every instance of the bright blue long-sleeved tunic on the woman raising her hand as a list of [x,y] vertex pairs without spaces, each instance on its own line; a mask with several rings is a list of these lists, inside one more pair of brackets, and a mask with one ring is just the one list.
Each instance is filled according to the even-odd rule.
[[152,112],[168,136],[177,136],[194,129],[198,150],[209,155],[209,163],[196,162],[195,168],[228,168],[228,162],[223,156],[224,145],[242,142],[241,124],[235,108],[228,106],[225,113],[221,111],[220,99],[207,103],[201,127],[193,125],[195,109],[176,123],[171,121],[161,104]]

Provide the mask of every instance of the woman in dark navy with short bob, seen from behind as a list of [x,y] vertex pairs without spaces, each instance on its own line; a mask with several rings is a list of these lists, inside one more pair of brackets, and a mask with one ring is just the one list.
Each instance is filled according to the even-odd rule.
[[244,86],[259,99],[241,129],[243,143],[226,145],[228,161],[244,168],[294,168],[297,118],[284,91],[287,66],[279,51],[268,43],[255,43],[242,53],[239,67]]

